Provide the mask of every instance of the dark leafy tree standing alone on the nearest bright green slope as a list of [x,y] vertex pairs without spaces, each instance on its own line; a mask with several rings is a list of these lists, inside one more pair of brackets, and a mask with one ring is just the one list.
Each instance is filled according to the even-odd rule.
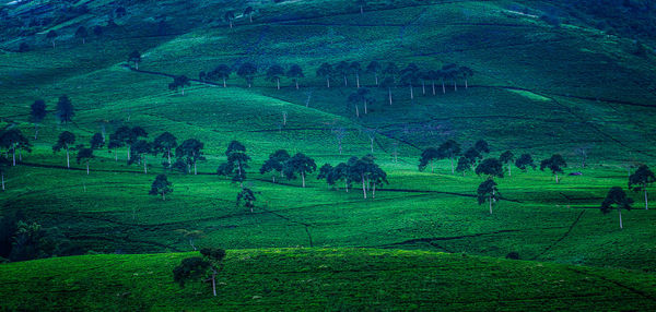
[[173,279],[185,287],[190,280],[212,281],[212,292],[216,297],[216,275],[223,269],[225,250],[203,248],[200,256],[183,259],[183,262],[173,269]]

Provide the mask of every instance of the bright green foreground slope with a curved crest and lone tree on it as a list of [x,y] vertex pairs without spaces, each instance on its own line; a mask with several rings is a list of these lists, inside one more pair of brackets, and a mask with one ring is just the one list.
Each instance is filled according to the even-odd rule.
[[[656,277],[621,269],[373,249],[230,250],[219,296],[180,289],[196,253],[85,255],[0,271],[3,309],[32,310],[652,310]],[[62,296],[66,295],[66,296]]]

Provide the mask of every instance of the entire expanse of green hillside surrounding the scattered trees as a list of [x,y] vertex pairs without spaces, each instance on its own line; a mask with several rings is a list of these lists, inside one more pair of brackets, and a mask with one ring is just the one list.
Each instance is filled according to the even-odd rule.
[[[17,19],[40,5],[38,2],[12,7],[8,12]],[[620,229],[617,213],[604,215],[598,208],[610,187],[626,188],[629,166],[656,165],[654,55],[631,53],[631,38],[608,35],[576,20],[553,27],[536,16],[517,14],[509,9],[513,1],[368,1],[364,14],[350,1],[197,2],[130,3],[128,14],[115,20],[117,26],[91,36],[84,45],[74,38],[75,28],[105,25],[108,12],[116,9],[113,1],[91,1],[90,13],[52,26],[60,34],[55,48],[45,38],[49,28],[25,26],[26,33],[38,32],[20,37],[12,35],[15,29],[0,25],[0,129],[17,128],[31,136],[30,105],[37,98],[48,105],[38,139],[31,140],[33,152],[23,153],[19,166],[5,172],[0,217],[20,213],[57,228],[92,253],[188,252],[191,245],[180,230],[200,230],[196,245],[231,251],[226,279],[241,277],[226,281],[232,290],[222,296],[235,297],[214,301],[199,289],[177,289],[169,271],[185,256],[178,253],[90,255],[3,265],[0,280],[12,281],[0,288],[0,293],[16,291],[12,285],[33,280],[38,272],[61,279],[66,275],[61,266],[66,265],[91,266],[104,274],[101,276],[116,274],[116,287],[121,290],[66,290],[98,283],[78,285],[91,276],[82,273],[70,283],[52,281],[52,287],[62,291],[54,301],[49,301],[51,293],[44,290],[45,285],[36,285],[44,291],[43,307],[99,307],[103,304],[93,303],[99,300],[98,293],[137,293],[153,285],[165,291],[155,295],[148,290],[143,298],[113,295],[102,300],[116,309],[171,304],[171,310],[216,302],[230,309],[273,304],[280,310],[361,310],[365,305],[410,310],[435,304],[453,310],[576,310],[591,307],[576,304],[593,301],[609,310],[654,307],[654,293],[646,287],[654,285],[656,272],[655,211],[643,208],[641,193],[629,193],[636,201],[635,209],[622,214],[624,229]],[[219,17],[222,13],[214,14],[230,8],[243,10],[246,3],[256,9],[253,23],[238,17],[230,28]],[[530,3],[527,5],[535,10],[544,4]],[[15,52],[20,41],[32,49]],[[139,71],[125,65],[134,49],[142,53]],[[325,80],[315,75],[323,62],[342,60],[360,61],[363,67],[372,60],[394,61],[401,68],[414,62],[426,69],[454,62],[470,67],[475,75],[468,88],[460,81],[457,92],[447,86],[443,94],[438,85],[435,96],[430,85],[426,94],[421,85],[414,86],[414,99],[407,86],[398,85],[393,88],[394,104],[388,105],[387,91],[376,87],[371,74],[362,74],[362,84],[376,100],[367,115],[358,118],[347,100],[356,91],[354,79],[349,77],[350,85],[343,86],[338,76],[327,88]],[[196,80],[200,71],[220,63],[247,61],[260,70],[250,88],[236,74],[226,88],[216,85],[221,82],[200,81],[194,81],[184,96],[167,88],[171,75]],[[267,81],[262,72],[273,63],[285,68],[300,64],[306,75],[301,88],[295,89],[289,79],[282,80],[281,89]],[[62,94],[75,107],[69,124],[58,123],[55,117]],[[112,133],[121,125],[143,127],[149,140],[168,131],[178,143],[189,137],[202,141],[207,160],[199,163],[200,175],[166,172],[174,192],[161,201],[148,195],[154,177],[165,172],[161,155],[149,157],[149,173],[144,175],[139,165],[126,165],[125,148],[119,148],[118,161],[104,148],[95,152],[91,175],[86,175],[83,164],[72,161],[73,168],[68,170],[63,153],[52,153],[62,131],[73,132],[78,144],[87,145],[94,133],[102,129]],[[342,155],[337,129],[345,131]],[[364,156],[372,149],[367,134],[372,130],[376,133],[373,155],[389,180],[375,199],[362,199],[356,188],[348,193],[341,185],[331,189],[317,181],[316,175],[308,177],[307,188],[301,188],[298,180],[277,179],[273,183],[271,175],[259,175],[261,164],[278,148],[305,153],[318,166]],[[497,179],[502,201],[490,215],[476,199],[484,178],[473,172],[452,175],[446,160],[436,164],[435,172],[419,172],[421,151],[449,139],[458,141],[462,149],[484,139],[491,145],[490,157],[511,149],[515,155],[530,153],[539,161],[558,153],[569,167],[558,184],[550,172],[514,168],[512,177]],[[246,185],[257,192],[254,213],[235,206],[238,184],[215,175],[232,140],[243,142],[253,157]],[[579,165],[581,148],[588,155],[586,168]],[[395,151],[398,161],[394,161]],[[583,175],[566,176],[570,172]],[[509,252],[539,262],[493,259]],[[476,256],[462,259],[461,253]],[[407,257],[421,265],[411,266]],[[261,262],[246,263],[244,259]],[[300,259],[301,266],[294,267],[294,259]],[[365,265],[361,263],[364,260],[372,267],[360,266]],[[328,262],[326,267],[320,267],[323,261]],[[266,276],[273,274],[273,268],[260,272],[278,262],[288,271],[308,268],[291,284],[284,280],[291,274],[269,279]],[[44,269],[37,272],[21,266],[42,264]],[[352,272],[327,276],[340,265]],[[376,266],[389,271],[378,275]],[[17,271],[21,274],[15,275]],[[512,274],[500,274],[506,271]],[[129,277],[133,272],[155,273],[152,280],[136,280]],[[248,272],[267,283],[247,280]],[[361,276],[355,273],[361,272],[370,272],[364,276],[371,279],[363,279],[368,284],[355,283]],[[446,274],[448,281],[412,277],[434,274]],[[502,279],[493,283],[494,291],[484,291],[483,286],[495,278]],[[459,299],[449,297],[454,283],[467,285]],[[296,301],[302,297],[276,295],[284,292],[279,286],[298,285],[307,291],[307,303]],[[344,285],[352,287],[343,293],[336,290]],[[425,291],[396,293],[400,290],[390,285]],[[269,292],[260,287],[268,287]],[[517,290],[506,292],[506,287]],[[537,292],[542,288],[543,296]],[[629,288],[640,291],[626,292]],[[640,300],[620,298],[618,289]],[[356,296],[353,301],[340,301],[344,293]],[[253,296],[261,298],[251,300]],[[69,301],[61,299],[68,297]],[[582,298],[591,301],[585,303],[587,299]],[[16,296],[7,307],[28,309],[25,300],[27,297]],[[285,300],[291,300],[289,305],[280,305]]]

